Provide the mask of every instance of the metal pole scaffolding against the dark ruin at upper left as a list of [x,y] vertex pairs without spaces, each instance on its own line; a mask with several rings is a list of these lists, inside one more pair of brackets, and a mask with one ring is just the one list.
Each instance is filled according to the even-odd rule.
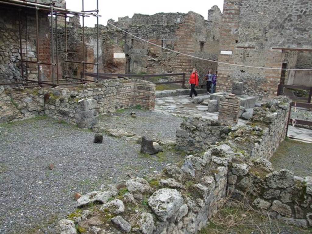
[[[3,1],[0,0],[0,4],[6,4],[9,6],[14,6],[14,7],[19,7],[18,9],[18,18],[19,18],[19,46],[20,46],[20,54],[21,54],[21,74],[22,74],[22,82],[14,82],[14,83],[0,83],[0,85],[22,85],[26,86],[28,88],[33,88],[33,87],[55,87],[58,85],[79,85],[79,84],[84,84],[86,82],[98,82],[99,80],[99,0],[96,0],[96,10],[90,10],[90,11],[85,11],[84,10],[84,0],[82,0],[82,11],[77,12],[77,11],[71,11],[66,8],[61,8],[61,7],[55,7],[55,2],[51,0],[49,5],[44,5],[44,4],[39,4],[37,0],[35,2],[28,2],[26,0],[7,0]],[[37,61],[28,61],[23,59],[23,50],[22,50],[22,19],[21,19],[21,12],[22,8],[28,8],[28,9],[33,9],[35,10],[35,16],[36,16],[36,54],[37,54]],[[43,61],[40,61],[39,55],[39,17],[38,17],[38,12],[39,11],[44,11],[47,12],[48,14],[50,13],[51,15],[51,22],[50,22],[50,32],[51,32],[51,63],[46,63]],[[68,38],[67,38],[67,17],[68,15],[78,15],[82,17],[82,61],[71,61],[68,60]],[[54,26],[53,26],[53,16],[55,16],[55,39],[54,39]],[[96,17],[96,38],[97,38],[97,56],[96,56],[96,63],[93,62],[86,62],[85,61],[85,17]],[[65,17],[65,63],[66,63],[66,75],[64,76],[65,79],[59,79],[59,51],[58,51],[58,35],[57,35],[57,19],[58,17]],[[27,24],[27,21],[26,21]],[[56,42],[56,45],[54,44]],[[56,61],[54,61],[54,47],[56,46]],[[34,63],[37,64],[37,72],[38,72],[38,81],[35,80],[29,80],[26,74],[24,75],[24,69],[23,69],[23,64],[26,64],[27,68],[27,63]],[[80,78],[78,77],[71,77],[68,76],[68,63],[77,63],[77,64],[82,64],[82,75]],[[85,79],[85,65],[94,65],[96,66],[96,71],[97,71],[97,76],[95,80],[86,80]],[[46,65],[46,66],[51,66],[51,79],[50,80],[44,80],[42,81],[41,79],[41,70],[40,70],[40,65]],[[56,80],[55,80],[55,68],[56,68]],[[60,81],[68,79],[74,79],[74,80],[80,80],[80,82],[68,82],[68,83],[60,83]],[[32,83],[32,85],[29,85],[29,83]],[[36,85],[34,85],[36,83]]]

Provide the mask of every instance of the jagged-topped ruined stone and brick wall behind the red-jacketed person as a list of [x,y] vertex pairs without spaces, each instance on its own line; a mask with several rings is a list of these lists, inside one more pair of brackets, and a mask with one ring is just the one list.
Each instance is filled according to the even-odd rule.
[[[109,22],[138,36],[166,48],[194,56],[218,59],[219,36],[222,13],[217,6],[209,13],[210,21],[195,13],[158,13],[155,15],[134,14],[132,18],[122,17],[117,22]],[[59,50],[65,49],[64,24],[58,30]],[[68,24],[69,58],[82,61],[82,29],[79,24]],[[85,61],[96,61],[96,28],[85,27]],[[204,46],[201,51],[201,42]],[[78,49],[77,49],[78,48]],[[124,53],[125,58],[114,58],[114,53]],[[189,72],[195,66],[201,77],[208,68],[217,70],[217,64],[200,61],[152,46],[121,32],[114,27],[100,25],[100,72],[162,74]],[[64,60],[63,56],[60,61]],[[65,74],[65,62],[60,69]],[[69,63],[69,75],[80,76],[82,65]],[[95,66],[86,66],[86,71],[95,72]],[[181,77],[169,79],[181,80]],[[188,79],[188,75],[187,75]],[[203,79],[200,80],[204,85]]]

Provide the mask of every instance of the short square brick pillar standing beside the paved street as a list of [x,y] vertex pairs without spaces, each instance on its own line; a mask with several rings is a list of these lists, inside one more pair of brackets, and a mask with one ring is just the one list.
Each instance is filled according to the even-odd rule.
[[219,121],[235,125],[238,122],[239,99],[234,94],[229,94],[220,100]]

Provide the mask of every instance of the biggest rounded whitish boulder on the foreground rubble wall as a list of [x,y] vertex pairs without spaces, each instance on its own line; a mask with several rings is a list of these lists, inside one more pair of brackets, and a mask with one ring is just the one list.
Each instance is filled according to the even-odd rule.
[[148,204],[158,216],[158,218],[165,222],[172,217],[183,205],[183,197],[176,189],[162,188],[153,193],[149,197]]

